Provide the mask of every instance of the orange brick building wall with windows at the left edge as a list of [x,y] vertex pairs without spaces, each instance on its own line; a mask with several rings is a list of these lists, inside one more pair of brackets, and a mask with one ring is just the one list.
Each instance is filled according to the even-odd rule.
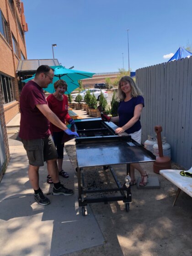
[[23,3],[0,0],[0,123],[5,145],[5,163],[0,165],[0,179],[9,163],[6,124],[19,112],[19,86],[16,68],[20,59],[27,59]]

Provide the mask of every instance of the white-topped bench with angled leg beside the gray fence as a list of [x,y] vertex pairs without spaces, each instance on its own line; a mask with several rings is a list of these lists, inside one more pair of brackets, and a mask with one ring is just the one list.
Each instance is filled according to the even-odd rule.
[[[192,168],[190,170],[192,170]],[[173,206],[175,205],[176,199],[178,198],[181,190],[192,197],[192,178],[181,176],[180,171],[182,170],[160,170],[160,174],[162,176],[178,187]]]

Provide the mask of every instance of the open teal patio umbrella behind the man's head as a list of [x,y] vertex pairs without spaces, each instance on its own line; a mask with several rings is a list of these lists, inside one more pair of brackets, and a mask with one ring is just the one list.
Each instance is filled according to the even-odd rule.
[[[67,83],[67,91],[65,94],[69,94],[79,87],[78,80],[91,78],[95,74],[81,70],[65,69],[63,66],[51,66],[51,68],[54,69],[53,83],[49,84],[47,88],[43,88],[44,91],[48,91],[50,93],[54,92],[53,85],[57,80],[63,79]],[[35,74],[22,82],[27,83],[29,80],[32,80],[34,76]]]

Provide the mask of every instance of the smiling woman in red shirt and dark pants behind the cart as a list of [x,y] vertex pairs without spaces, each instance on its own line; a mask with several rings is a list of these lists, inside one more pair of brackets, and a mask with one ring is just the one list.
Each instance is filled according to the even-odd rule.
[[[67,84],[64,80],[58,80],[54,83],[55,92],[47,97],[48,106],[56,114],[57,117],[64,124],[74,124],[74,120],[69,116],[68,113],[68,98],[64,95],[67,91]],[[68,178],[69,174],[62,169],[63,158],[64,158],[64,144],[61,144],[64,131],[50,123],[50,130],[53,136],[53,141],[58,153],[58,169],[59,175],[64,178]],[[47,182],[52,183],[51,177],[48,175]]]

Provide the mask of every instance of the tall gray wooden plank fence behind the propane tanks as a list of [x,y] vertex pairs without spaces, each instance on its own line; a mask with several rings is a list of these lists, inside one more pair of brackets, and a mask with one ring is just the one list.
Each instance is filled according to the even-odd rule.
[[144,94],[142,143],[162,126],[171,145],[171,160],[192,166],[192,57],[136,70]]

